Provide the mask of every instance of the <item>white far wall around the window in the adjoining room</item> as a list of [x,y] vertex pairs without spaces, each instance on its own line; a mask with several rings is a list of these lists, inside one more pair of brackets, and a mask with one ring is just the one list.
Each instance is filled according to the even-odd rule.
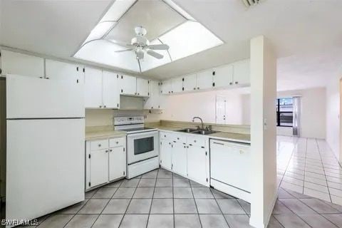
[[[326,88],[289,90],[277,93],[278,98],[301,95],[301,136],[326,138]],[[242,96],[242,122],[250,124],[250,95]],[[336,115],[337,116],[337,115]],[[292,135],[292,128],[277,127],[278,135]]]

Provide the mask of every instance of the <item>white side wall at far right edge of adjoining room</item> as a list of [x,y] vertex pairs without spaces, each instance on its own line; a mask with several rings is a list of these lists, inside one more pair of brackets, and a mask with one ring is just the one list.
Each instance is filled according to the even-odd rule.
[[326,86],[326,141],[342,162],[340,152],[340,78],[342,71],[333,76]]

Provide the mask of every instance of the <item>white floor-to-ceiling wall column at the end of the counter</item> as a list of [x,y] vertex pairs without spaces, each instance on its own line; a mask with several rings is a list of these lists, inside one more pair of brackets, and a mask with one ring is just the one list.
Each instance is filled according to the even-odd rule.
[[277,196],[276,57],[264,36],[252,38],[251,55],[251,218],[267,227]]

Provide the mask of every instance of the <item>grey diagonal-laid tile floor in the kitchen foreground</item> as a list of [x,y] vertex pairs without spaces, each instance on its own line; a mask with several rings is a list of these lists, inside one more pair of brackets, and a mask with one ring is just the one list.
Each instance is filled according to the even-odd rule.
[[[249,214],[249,203],[160,169],[87,192],[38,228],[249,228]],[[342,227],[342,206],[280,188],[269,223],[278,227]]]

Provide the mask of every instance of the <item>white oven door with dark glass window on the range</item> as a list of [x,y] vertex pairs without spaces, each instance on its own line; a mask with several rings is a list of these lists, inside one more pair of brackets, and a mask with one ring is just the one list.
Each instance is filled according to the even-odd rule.
[[159,155],[158,131],[127,135],[128,165]]

